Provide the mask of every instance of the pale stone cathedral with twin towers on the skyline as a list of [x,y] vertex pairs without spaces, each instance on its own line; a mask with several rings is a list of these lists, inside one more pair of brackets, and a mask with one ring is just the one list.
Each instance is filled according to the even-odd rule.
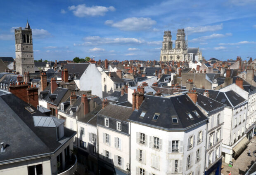
[[160,61],[200,61],[202,52],[199,51],[199,48],[188,48],[185,36],[184,28],[178,29],[175,48],[173,48],[171,31],[164,31]]

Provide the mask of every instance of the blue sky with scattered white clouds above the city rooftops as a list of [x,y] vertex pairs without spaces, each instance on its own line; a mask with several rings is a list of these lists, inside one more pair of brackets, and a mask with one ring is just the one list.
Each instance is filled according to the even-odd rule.
[[36,60],[159,60],[164,30],[174,47],[178,28],[206,60],[256,58],[256,0],[2,0],[0,56],[15,58],[27,20]]

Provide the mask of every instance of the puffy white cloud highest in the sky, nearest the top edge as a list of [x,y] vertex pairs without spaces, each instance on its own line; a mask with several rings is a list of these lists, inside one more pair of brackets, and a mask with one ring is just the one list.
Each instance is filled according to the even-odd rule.
[[69,10],[73,11],[73,14],[78,17],[84,16],[104,16],[108,11],[115,11],[115,7],[104,7],[104,6],[92,6],[87,7],[85,4],[77,6],[69,6]]

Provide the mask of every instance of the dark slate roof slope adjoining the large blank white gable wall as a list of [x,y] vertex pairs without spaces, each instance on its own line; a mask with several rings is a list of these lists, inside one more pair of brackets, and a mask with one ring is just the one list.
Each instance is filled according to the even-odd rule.
[[83,72],[88,68],[88,65],[90,63],[71,63],[64,65],[64,68],[66,68],[69,72],[69,75],[71,75],[71,78],[74,77],[76,74],[76,79],[80,79],[83,75]]

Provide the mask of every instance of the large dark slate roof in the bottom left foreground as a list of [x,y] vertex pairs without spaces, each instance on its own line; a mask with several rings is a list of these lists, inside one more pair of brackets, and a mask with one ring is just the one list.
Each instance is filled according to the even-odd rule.
[[[15,102],[15,103],[14,103]],[[19,104],[19,105],[17,105]],[[1,142],[8,144],[5,152],[0,152],[0,163],[26,159],[40,154],[52,154],[62,144],[56,141],[56,128],[35,127],[33,115],[45,116],[36,108],[31,114],[25,107],[30,106],[12,93],[0,96]],[[71,138],[75,131],[64,128],[64,137]],[[61,140],[60,140],[61,141]]]

